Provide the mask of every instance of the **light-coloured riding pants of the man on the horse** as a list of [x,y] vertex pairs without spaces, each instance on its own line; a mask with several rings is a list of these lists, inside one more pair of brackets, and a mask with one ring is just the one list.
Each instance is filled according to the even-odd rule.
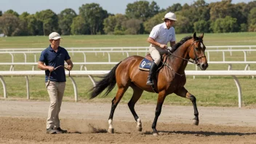
[[149,52],[151,53],[151,57],[153,58],[154,63],[156,63],[156,65],[159,65],[161,61],[161,55],[163,55],[164,53],[167,53],[167,50],[151,44],[149,46]]

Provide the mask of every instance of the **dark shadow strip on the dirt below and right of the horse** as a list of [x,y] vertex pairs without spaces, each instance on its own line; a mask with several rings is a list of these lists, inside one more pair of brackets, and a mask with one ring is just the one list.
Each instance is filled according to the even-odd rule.
[[[202,137],[207,137],[207,136],[212,136],[212,135],[256,135],[256,132],[206,132],[206,131],[159,131],[159,133],[166,133],[169,135],[172,134],[183,134],[183,135],[196,135],[196,136],[202,136]],[[152,135],[152,132],[143,132],[144,135]]]

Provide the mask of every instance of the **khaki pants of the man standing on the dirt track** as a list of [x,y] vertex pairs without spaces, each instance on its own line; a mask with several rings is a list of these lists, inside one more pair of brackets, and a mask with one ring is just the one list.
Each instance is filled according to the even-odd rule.
[[50,105],[47,118],[47,129],[60,127],[60,106],[63,102],[65,82],[49,81],[45,83],[49,94]]

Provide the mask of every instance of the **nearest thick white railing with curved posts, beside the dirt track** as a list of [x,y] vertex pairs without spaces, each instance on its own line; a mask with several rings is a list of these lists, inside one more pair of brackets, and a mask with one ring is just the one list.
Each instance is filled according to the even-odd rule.
[[[78,101],[78,91],[76,81],[72,76],[91,76],[91,75],[105,75],[109,71],[71,71],[71,79],[73,83],[75,101]],[[27,98],[29,99],[29,81],[28,76],[44,76],[44,71],[0,71],[0,80],[4,89],[4,98],[7,98],[7,87],[3,76],[25,76],[27,85]],[[68,73],[66,73],[68,75]],[[236,76],[256,76],[256,71],[185,71],[186,76],[233,76],[238,89],[239,108],[241,108],[241,86]],[[91,79],[91,78],[90,78]],[[91,79],[92,80],[92,79]],[[95,84],[95,83],[94,83]]]

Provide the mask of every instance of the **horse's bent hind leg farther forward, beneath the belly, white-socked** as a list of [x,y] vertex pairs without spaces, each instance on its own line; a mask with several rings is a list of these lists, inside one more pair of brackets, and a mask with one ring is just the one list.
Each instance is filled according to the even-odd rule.
[[131,87],[133,89],[133,95],[132,99],[129,100],[128,106],[129,110],[132,112],[132,115],[135,118],[135,121],[137,121],[137,130],[141,132],[143,130],[143,127],[139,116],[137,116],[137,113],[135,112],[135,103],[137,103],[137,100],[139,100],[141,95],[143,94],[143,89],[136,87],[134,84],[132,84]]

